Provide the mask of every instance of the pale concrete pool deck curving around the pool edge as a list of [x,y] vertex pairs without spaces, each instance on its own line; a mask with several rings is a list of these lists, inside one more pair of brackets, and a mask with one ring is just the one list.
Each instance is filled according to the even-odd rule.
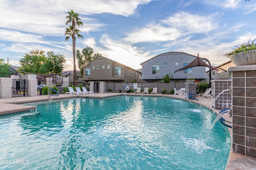
[[[28,96],[28,97],[16,97],[16,98],[5,98],[0,99],[0,116],[1,115],[8,115],[12,113],[19,113],[24,111],[30,111],[36,109],[36,106],[28,106],[22,105],[25,103],[32,103],[32,102],[42,102],[42,101],[49,101],[49,100],[61,100],[67,98],[109,98],[114,96],[120,95],[136,95],[136,96],[164,96],[170,98],[178,98],[182,100],[187,100],[184,96],[179,95],[170,95],[170,94],[133,94],[133,93],[95,93],[95,94],[85,94],[85,95],[70,95],[70,94],[60,94],[59,96],[51,96],[48,98],[47,95],[43,96]],[[191,102],[195,102],[201,104],[202,98],[199,98],[200,101],[189,100]],[[210,108],[212,105],[211,101],[206,101],[204,106]],[[220,113],[220,110],[214,110],[215,113]],[[224,119],[231,121],[229,115],[225,115]],[[231,132],[231,128],[228,128]],[[228,163],[226,165],[226,170],[256,170],[256,158],[252,158],[250,156],[245,156],[242,154],[234,153],[230,150],[230,155],[228,158]]]

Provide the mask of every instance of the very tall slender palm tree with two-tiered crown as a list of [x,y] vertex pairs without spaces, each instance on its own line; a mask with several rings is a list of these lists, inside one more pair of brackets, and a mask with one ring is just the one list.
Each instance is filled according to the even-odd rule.
[[69,25],[69,27],[66,28],[66,31],[64,35],[66,35],[65,41],[69,40],[69,37],[72,37],[72,43],[73,43],[73,60],[74,60],[74,74],[73,74],[73,85],[77,86],[76,81],[76,36],[78,38],[83,38],[82,35],[79,34],[79,29],[76,28],[76,26],[80,27],[83,26],[83,22],[78,17],[78,13],[74,13],[73,10],[68,12],[68,16],[66,16],[67,22],[66,25]]

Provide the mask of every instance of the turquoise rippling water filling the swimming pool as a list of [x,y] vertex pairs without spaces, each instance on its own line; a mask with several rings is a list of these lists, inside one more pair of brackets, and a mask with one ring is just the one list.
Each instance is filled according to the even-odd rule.
[[224,170],[228,160],[227,127],[218,121],[204,144],[216,115],[188,101],[121,96],[36,106],[0,117],[0,169]]

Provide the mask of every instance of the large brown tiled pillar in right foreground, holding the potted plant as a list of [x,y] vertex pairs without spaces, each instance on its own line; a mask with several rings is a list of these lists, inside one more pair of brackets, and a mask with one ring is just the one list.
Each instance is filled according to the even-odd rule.
[[232,72],[232,151],[256,158],[256,65]]

